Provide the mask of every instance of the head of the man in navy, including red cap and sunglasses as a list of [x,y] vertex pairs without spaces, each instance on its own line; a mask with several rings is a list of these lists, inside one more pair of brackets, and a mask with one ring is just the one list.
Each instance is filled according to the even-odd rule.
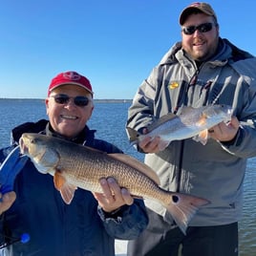
[[46,107],[52,129],[74,139],[93,114],[90,81],[75,72],[57,75],[49,86]]

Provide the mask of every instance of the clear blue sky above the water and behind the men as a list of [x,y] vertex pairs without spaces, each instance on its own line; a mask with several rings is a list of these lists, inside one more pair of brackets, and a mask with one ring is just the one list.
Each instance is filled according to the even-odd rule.
[[[3,0],[0,97],[45,98],[54,75],[74,70],[95,98],[132,98],[181,39],[185,0]],[[221,36],[256,55],[255,0],[208,1]]]

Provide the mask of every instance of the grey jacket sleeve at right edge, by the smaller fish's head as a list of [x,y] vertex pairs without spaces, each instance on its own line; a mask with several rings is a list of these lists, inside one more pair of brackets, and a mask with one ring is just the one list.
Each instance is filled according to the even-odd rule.
[[240,158],[256,157],[256,58],[248,58],[233,64],[240,74],[233,106],[234,116],[240,121],[235,139],[222,143],[224,149]]

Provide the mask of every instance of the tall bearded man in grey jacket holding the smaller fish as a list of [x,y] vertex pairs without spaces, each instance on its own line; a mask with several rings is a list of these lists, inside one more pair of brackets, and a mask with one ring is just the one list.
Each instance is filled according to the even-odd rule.
[[[129,256],[237,256],[246,160],[256,157],[256,60],[220,37],[215,11],[196,2],[180,15],[181,42],[160,60],[139,87],[128,112],[127,133],[147,133],[156,119],[182,106],[232,106],[234,117],[209,130],[206,145],[175,140],[160,151],[146,137],[138,150],[171,191],[209,200],[183,234],[164,207],[145,200],[149,225],[128,243]],[[134,131],[133,131],[134,130]],[[133,131],[133,133],[131,132]],[[130,133],[130,134],[129,134]]]

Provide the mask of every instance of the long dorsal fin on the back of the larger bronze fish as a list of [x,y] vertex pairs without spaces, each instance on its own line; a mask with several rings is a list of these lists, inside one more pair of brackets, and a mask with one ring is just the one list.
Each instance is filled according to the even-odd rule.
[[139,172],[143,173],[144,175],[146,175],[147,177],[149,177],[150,179],[152,179],[153,181],[155,181],[160,185],[159,176],[144,162],[141,162],[126,154],[115,153],[115,154],[108,154],[108,156],[115,160],[120,160],[126,163],[127,165],[137,169]]

